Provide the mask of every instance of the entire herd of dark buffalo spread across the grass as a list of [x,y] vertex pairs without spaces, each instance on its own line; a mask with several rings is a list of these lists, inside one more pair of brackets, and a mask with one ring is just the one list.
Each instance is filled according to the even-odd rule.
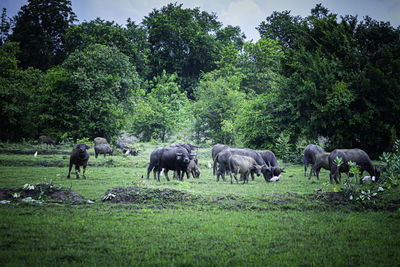
[[[41,136],[39,138],[40,144],[54,145],[55,142],[48,136]],[[103,154],[114,155],[110,144],[105,138],[96,137],[94,139],[94,150],[95,156]],[[83,178],[86,179],[85,170],[89,159],[89,152],[87,151],[90,147],[86,144],[78,144],[74,146],[70,155],[70,163],[67,178],[70,178],[72,166],[75,165],[76,178],[79,179],[80,166],[83,167]],[[137,155],[136,151],[130,150],[126,143],[119,141],[117,148],[121,149],[126,154]],[[198,168],[197,154],[194,153],[199,146],[191,144],[178,144],[157,147],[150,154],[149,167],[147,169],[147,179],[151,171],[154,173],[154,179],[160,181],[160,175],[164,172],[165,178],[169,181],[168,171],[174,171],[174,177],[183,180],[184,174],[186,173],[187,178],[190,175],[198,178],[200,176],[200,170]],[[248,183],[249,175],[254,180],[254,174],[257,176],[263,174],[265,181],[276,181],[279,179],[280,174],[284,172],[284,168],[280,168],[278,161],[274,153],[270,150],[253,150],[250,148],[232,148],[223,144],[216,144],[211,150],[211,156],[213,159],[213,175],[216,175],[217,182],[220,177],[225,181],[225,175],[229,174],[231,178],[231,184],[233,178],[236,183],[239,183],[237,175],[240,174],[240,180],[243,183]],[[340,158],[342,164],[337,164],[337,159]],[[324,150],[318,146],[310,144],[304,150],[304,176],[307,176],[307,168],[310,165],[311,171],[308,179],[311,179],[311,175],[315,174],[319,180],[319,172],[321,168],[330,171],[329,177],[330,182],[333,184],[333,180],[336,183],[341,181],[341,173],[347,173],[349,175],[349,162],[354,162],[360,169],[360,175],[364,171],[367,171],[372,180],[378,180],[380,175],[380,169],[374,166],[371,159],[361,149],[335,149],[330,153],[324,152]],[[338,180],[339,178],[339,180]],[[360,179],[362,183],[362,179]]]

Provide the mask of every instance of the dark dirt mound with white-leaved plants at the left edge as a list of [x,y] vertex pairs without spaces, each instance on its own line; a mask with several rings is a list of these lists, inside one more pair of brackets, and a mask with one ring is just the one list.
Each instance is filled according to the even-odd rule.
[[[28,186],[29,187],[29,186]],[[57,187],[54,184],[36,184],[30,189],[0,189],[0,201],[9,200],[12,202],[32,200],[32,202],[55,202],[83,204],[85,200],[72,190],[64,187]]]

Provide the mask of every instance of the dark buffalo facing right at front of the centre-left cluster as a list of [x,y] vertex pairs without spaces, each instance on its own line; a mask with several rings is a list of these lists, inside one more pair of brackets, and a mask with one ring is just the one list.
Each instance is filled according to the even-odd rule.
[[178,172],[178,177],[183,181],[183,175],[187,170],[189,162],[193,159],[186,148],[181,146],[166,146],[160,151],[157,164],[157,178],[160,181],[160,172],[164,169],[165,178],[169,181],[168,171],[174,170]]

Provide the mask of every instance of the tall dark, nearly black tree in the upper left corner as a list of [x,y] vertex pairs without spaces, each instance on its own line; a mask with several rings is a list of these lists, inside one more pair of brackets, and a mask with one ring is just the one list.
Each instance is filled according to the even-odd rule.
[[21,66],[47,70],[63,62],[65,32],[75,20],[69,0],[28,0],[15,17],[10,36],[20,44]]

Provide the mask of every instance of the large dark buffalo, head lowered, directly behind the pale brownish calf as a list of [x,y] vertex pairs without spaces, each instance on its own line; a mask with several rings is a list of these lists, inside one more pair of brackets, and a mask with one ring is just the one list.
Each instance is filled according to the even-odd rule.
[[232,155],[242,155],[253,158],[257,164],[262,167],[261,173],[263,174],[265,181],[269,182],[269,180],[272,178],[273,173],[271,167],[265,163],[260,154],[255,150],[250,148],[227,148],[218,153],[214,160],[214,173],[217,164],[220,165],[220,172],[217,173],[217,182],[219,181],[219,175],[221,175],[222,179],[225,181],[225,172],[229,170],[229,158]]

